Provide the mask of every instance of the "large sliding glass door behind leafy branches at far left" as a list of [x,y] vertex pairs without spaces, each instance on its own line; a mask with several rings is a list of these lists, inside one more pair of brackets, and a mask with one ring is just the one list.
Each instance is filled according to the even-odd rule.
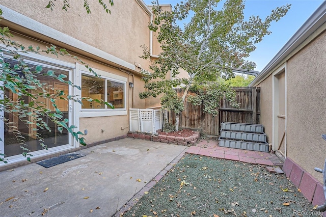
[[[6,59],[6,61],[10,62],[11,65],[15,64],[15,60]],[[39,63],[30,63],[29,67],[34,67],[37,65],[43,65]],[[55,71],[56,75],[64,74],[67,77],[64,78],[65,80],[68,80],[69,78],[69,70],[49,66],[49,65],[43,65],[43,71],[42,73],[46,73],[48,70]],[[21,73],[18,71],[18,73]],[[55,93],[57,90],[64,91],[65,95],[68,95],[69,93],[69,86],[68,84],[59,82],[57,79],[53,79],[49,76],[43,76],[41,74],[37,74],[36,78],[41,81],[41,83],[44,83],[44,87],[46,87],[47,91],[52,94]],[[23,73],[21,73],[21,76],[24,76]],[[32,94],[39,95],[41,94],[41,90],[35,90],[31,92]],[[11,99],[15,100],[17,99],[17,95],[13,94],[9,90],[5,90],[5,94],[9,96]],[[24,102],[29,103],[32,99],[30,97],[24,97]],[[41,96],[37,98],[36,101],[39,105],[43,106],[44,108],[49,109],[51,112],[55,112],[55,107],[53,107],[52,103],[48,99],[44,99]],[[56,98],[56,104],[57,107],[61,110],[63,119],[69,119],[69,102],[65,99],[60,99],[59,97]],[[69,144],[69,134],[66,129],[64,129],[62,132],[58,131],[58,126],[53,123],[48,117],[41,117],[43,121],[48,125],[50,128],[50,131],[47,129],[43,129],[42,127],[38,127],[36,124],[28,124],[26,125],[25,120],[29,122],[33,122],[31,117],[19,117],[18,113],[4,113],[5,119],[7,119],[10,124],[5,124],[3,121],[0,125],[2,130],[2,140],[3,144],[0,143],[0,152],[5,154],[5,158],[12,157],[15,155],[21,155],[23,152],[21,149],[21,145],[17,141],[17,137],[15,132],[15,129],[18,129],[22,136],[25,138],[26,146],[25,148],[28,148],[31,152],[42,150],[42,146],[40,145],[40,142],[36,139],[36,132],[41,134],[41,137],[44,139],[44,145],[47,146],[48,149],[59,147],[62,145]],[[70,123],[69,123],[70,125]],[[34,130],[33,130],[34,128]],[[37,129],[37,130],[35,130]],[[32,153],[33,154],[33,153]]]

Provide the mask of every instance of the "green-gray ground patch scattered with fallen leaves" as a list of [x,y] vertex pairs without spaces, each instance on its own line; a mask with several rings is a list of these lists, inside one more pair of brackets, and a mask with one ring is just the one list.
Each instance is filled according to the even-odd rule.
[[318,216],[300,189],[265,166],[185,154],[123,216]]

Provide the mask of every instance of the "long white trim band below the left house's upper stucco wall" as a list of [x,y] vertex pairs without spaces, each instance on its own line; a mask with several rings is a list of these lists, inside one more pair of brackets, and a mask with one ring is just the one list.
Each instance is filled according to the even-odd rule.
[[4,19],[23,26],[23,28],[29,29],[41,35],[44,35],[50,39],[62,42],[68,46],[72,46],[78,50],[82,50],[90,53],[98,58],[110,61],[112,63],[118,64],[122,67],[135,71],[135,66],[131,63],[128,63],[120,58],[117,58],[110,53],[104,52],[96,47],[93,47],[85,42],[79,41],[69,35],[66,35],[62,32],[59,32],[55,29],[50,28],[47,25],[44,25],[32,18],[24,16],[16,11],[13,11],[3,5],[0,5],[0,8],[3,11]]

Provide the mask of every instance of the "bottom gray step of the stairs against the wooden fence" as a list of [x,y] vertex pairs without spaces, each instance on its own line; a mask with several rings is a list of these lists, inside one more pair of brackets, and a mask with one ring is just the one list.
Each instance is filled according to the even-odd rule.
[[244,150],[252,150],[252,151],[263,151],[269,152],[268,143],[255,143],[255,142],[244,142],[244,141],[236,141],[236,140],[225,140],[219,139],[220,147],[228,147],[228,148],[237,148]]

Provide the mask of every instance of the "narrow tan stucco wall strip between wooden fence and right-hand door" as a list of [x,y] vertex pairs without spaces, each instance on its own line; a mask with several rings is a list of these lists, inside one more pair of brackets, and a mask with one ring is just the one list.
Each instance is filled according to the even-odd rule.
[[273,92],[272,76],[263,80],[257,87],[260,87],[260,124],[264,126],[268,143],[273,142]]

